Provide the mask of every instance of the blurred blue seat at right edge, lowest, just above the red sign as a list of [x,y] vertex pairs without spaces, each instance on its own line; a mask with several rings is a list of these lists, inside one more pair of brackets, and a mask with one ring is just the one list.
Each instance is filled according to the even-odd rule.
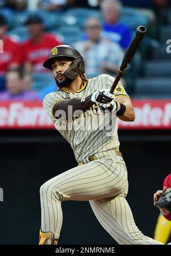
[[170,78],[139,78],[135,84],[135,94],[171,95]]

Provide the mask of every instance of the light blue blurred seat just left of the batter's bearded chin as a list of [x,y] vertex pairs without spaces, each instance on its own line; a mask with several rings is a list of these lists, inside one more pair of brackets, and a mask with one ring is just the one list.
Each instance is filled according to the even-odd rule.
[[32,89],[35,91],[39,91],[42,88],[46,87],[48,84],[52,82],[52,74],[51,73],[40,73],[40,74],[32,74]]

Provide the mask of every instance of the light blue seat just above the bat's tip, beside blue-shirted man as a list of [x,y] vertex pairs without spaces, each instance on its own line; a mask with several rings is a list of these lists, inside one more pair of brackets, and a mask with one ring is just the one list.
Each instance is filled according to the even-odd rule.
[[143,25],[148,27],[149,19],[146,15],[140,14],[136,9],[131,7],[123,7],[120,22],[127,24],[133,30]]

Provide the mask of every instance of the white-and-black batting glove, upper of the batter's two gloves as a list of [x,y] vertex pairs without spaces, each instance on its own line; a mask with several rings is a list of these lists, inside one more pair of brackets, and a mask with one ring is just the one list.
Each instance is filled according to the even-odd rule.
[[109,92],[109,89],[100,89],[100,91],[93,92],[91,101],[94,103],[109,103],[115,99],[115,95]]

